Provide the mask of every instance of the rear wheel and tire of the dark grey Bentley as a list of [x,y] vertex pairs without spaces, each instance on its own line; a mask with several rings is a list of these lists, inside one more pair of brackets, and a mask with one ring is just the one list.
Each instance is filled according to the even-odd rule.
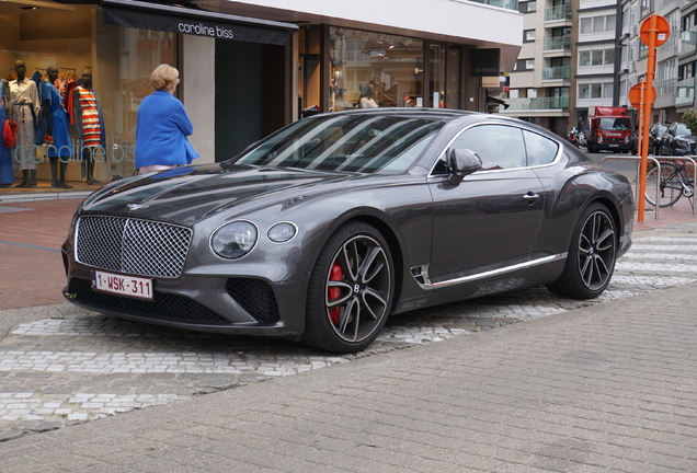
[[563,273],[547,288],[576,299],[598,297],[609,284],[617,257],[613,216],[602,204],[592,204],[574,229]]

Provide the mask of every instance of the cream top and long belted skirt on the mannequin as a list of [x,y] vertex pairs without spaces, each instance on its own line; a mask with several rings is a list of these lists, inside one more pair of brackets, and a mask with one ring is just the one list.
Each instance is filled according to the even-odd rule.
[[27,78],[10,82],[12,116],[18,126],[16,148],[13,150],[15,170],[36,170],[35,120],[41,113],[36,83]]

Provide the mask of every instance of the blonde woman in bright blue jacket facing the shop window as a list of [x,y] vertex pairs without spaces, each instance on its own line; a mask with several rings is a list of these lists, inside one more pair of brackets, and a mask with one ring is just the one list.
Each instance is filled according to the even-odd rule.
[[140,103],[136,123],[136,168],[140,174],[191,164],[198,158],[186,139],[194,132],[194,125],[174,96],[179,71],[160,65],[152,71],[150,83],[155,92]]

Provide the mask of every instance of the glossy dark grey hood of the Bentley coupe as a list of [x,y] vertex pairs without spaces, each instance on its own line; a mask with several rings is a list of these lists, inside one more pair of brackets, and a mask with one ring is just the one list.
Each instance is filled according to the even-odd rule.
[[[359,174],[236,164],[182,166],[115,181],[88,197],[82,212],[191,226],[224,210],[250,211],[345,191]],[[122,182],[123,181],[123,182]]]

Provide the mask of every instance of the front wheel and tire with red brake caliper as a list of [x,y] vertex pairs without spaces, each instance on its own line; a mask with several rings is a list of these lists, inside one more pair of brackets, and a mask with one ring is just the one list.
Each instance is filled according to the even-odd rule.
[[393,267],[387,242],[374,227],[340,227],[312,269],[301,342],[338,354],[368,347],[392,307]]

